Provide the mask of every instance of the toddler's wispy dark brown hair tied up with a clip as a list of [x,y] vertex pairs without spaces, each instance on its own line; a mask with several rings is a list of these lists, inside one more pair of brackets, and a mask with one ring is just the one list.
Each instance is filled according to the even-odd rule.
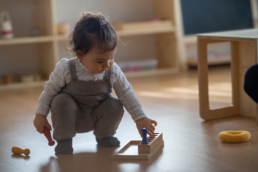
[[[106,24],[101,24],[102,20]],[[65,47],[75,56],[79,50],[81,55],[88,53],[92,48],[97,48],[99,53],[114,50],[120,38],[112,24],[99,12],[83,12],[74,29],[68,36],[71,47]]]

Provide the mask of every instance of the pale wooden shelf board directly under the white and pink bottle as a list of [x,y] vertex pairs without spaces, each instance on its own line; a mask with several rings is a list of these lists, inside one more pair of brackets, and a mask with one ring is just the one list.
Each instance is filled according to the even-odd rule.
[[53,41],[53,36],[20,37],[12,39],[0,39],[0,45],[31,44]]

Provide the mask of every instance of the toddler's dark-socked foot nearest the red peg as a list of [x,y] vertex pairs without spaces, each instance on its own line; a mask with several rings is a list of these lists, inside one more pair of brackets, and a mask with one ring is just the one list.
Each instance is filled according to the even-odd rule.
[[55,146],[55,153],[57,154],[72,154],[72,138],[65,140],[58,140],[57,146]]

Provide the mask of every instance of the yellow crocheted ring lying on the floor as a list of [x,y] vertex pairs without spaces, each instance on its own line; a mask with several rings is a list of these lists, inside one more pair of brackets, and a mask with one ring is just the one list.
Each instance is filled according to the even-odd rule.
[[229,143],[246,142],[251,138],[251,134],[247,131],[223,131],[219,134],[220,140]]

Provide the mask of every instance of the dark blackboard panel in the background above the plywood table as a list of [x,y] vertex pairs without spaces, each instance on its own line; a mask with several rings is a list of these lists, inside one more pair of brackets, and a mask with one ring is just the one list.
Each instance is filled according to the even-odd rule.
[[184,33],[253,28],[249,0],[181,0]]

